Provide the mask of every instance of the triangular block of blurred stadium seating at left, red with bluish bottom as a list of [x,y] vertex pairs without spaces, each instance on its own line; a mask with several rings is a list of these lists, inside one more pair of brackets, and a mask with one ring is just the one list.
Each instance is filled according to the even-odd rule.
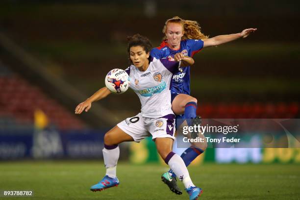
[[37,109],[42,110],[50,125],[58,129],[82,129],[86,126],[40,88],[0,63],[0,128],[32,128]]

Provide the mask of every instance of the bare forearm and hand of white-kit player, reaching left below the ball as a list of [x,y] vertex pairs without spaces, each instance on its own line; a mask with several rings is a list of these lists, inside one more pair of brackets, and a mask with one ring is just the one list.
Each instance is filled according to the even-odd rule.
[[101,100],[105,97],[107,97],[110,94],[110,90],[108,90],[107,87],[102,87],[100,90],[98,90],[94,95],[89,97],[87,100],[79,103],[75,108],[75,114],[81,114],[83,110],[85,112],[89,111],[89,109],[92,107],[92,102]]

